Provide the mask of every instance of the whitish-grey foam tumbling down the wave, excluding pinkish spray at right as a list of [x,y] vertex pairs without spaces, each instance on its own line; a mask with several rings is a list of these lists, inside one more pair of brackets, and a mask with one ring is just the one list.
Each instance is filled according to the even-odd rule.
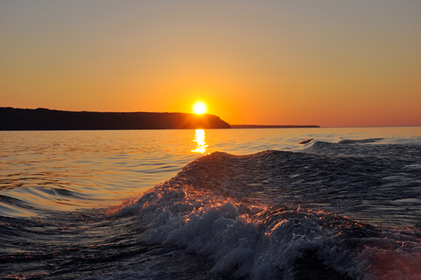
[[[163,190],[165,189],[165,190]],[[319,226],[323,213],[281,211],[269,222],[255,213],[264,206],[245,206],[210,194],[161,186],[126,206],[138,208],[140,236],[149,244],[175,245],[215,260],[213,274],[252,279],[278,279],[279,271],[293,266],[306,250],[316,250],[326,266],[356,276],[359,267],[349,260],[349,251],[338,248],[338,236]],[[282,216],[282,217],[281,217]]]

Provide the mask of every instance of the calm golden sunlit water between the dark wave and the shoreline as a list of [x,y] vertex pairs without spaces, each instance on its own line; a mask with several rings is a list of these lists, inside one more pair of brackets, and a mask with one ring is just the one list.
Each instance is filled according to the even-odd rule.
[[[305,139],[420,142],[420,128],[271,128],[154,131],[0,131],[0,194],[36,208],[117,204],[211,152],[302,151]],[[66,192],[69,191],[69,192]],[[36,215],[2,205],[1,214]]]

